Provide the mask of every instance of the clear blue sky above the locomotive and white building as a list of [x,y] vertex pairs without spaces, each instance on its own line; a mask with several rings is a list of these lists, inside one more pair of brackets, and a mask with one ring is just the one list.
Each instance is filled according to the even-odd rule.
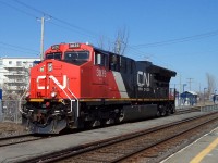
[[126,28],[128,57],[178,72],[171,82],[177,88],[180,78],[193,78],[192,90],[198,91],[207,87],[206,73],[218,83],[217,9],[217,0],[0,0],[0,57],[37,57],[37,17],[44,14],[45,49],[60,42],[97,46],[100,37],[113,41]]

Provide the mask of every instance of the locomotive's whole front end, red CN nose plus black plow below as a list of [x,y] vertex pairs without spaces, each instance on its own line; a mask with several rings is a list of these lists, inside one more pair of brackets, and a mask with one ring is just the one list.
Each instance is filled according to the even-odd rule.
[[22,121],[32,133],[59,133],[66,127],[66,120],[69,126],[74,125],[72,101],[78,96],[78,66],[53,59],[31,70],[31,92]]

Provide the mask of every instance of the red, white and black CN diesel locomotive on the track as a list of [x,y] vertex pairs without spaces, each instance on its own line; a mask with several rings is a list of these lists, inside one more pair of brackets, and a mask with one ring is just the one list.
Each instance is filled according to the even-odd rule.
[[22,122],[34,134],[174,113],[170,71],[88,43],[53,45],[31,68]]

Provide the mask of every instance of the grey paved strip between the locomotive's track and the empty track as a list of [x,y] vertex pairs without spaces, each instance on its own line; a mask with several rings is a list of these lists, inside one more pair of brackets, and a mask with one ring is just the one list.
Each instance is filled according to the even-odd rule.
[[[10,147],[3,147],[0,149],[0,162],[20,162],[29,158],[39,156],[49,152],[61,151],[68,148],[76,146],[84,146],[93,141],[109,139],[118,137],[123,134],[134,133],[142,129],[148,129],[160,124],[168,124],[178,122],[184,118],[189,118],[195,115],[205,114],[204,112],[194,112],[189,114],[173,115],[162,118],[148,120],[137,123],[129,123],[118,126],[111,126],[107,128],[93,129],[83,133],[76,133],[73,135],[59,136],[48,138],[44,140],[37,140],[32,142],[25,142],[22,145],[14,145]],[[193,155],[194,158],[195,155]],[[171,158],[172,159],[172,158]],[[170,159],[166,162],[170,162]],[[173,161],[172,161],[173,162]],[[180,162],[180,161],[175,161]],[[181,160],[184,162],[184,160]]]

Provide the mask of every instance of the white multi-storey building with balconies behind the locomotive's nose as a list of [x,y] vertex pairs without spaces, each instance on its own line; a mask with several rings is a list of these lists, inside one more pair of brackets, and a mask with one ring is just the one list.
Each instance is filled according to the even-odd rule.
[[29,83],[29,68],[38,58],[0,58],[0,88],[5,95],[21,95]]

